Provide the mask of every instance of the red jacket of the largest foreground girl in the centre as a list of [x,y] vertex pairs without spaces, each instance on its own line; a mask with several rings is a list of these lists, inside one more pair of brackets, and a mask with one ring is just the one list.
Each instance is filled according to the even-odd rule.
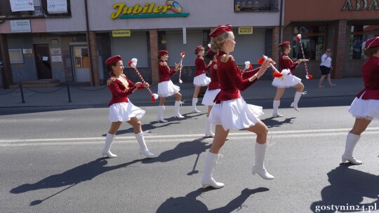
[[217,74],[218,83],[220,83],[220,92],[215,97],[215,102],[227,101],[241,97],[239,91],[244,91],[249,86],[253,85],[258,78],[249,81],[248,78],[259,71],[259,68],[251,71],[242,71],[237,67],[232,55],[228,55],[221,50],[218,50],[217,55]]

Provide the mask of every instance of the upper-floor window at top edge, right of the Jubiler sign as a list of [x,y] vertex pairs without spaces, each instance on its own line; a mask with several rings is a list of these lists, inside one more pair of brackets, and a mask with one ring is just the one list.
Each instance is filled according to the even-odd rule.
[[234,12],[278,11],[278,0],[234,0]]

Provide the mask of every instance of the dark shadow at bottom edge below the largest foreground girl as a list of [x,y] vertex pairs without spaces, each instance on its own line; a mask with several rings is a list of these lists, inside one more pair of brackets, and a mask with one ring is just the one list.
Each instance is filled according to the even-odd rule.
[[[162,205],[157,209],[157,213],[163,213],[163,212],[180,212],[180,213],[192,213],[192,212],[234,212],[234,210],[241,208],[248,208],[248,206],[244,205],[244,202],[253,194],[260,193],[264,191],[269,191],[268,188],[255,188],[255,189],[248,189],[245,188],[243,191],[241,191],[241,195],[239,195],[237,198],[234,198],[231,200],[227,205],[224,207],[219,207],[217,209],[208,210],[208,207],[201,202],[200,200],[197,200],[196,198],[200,195],[203,196],[204,193],[208,191],[215,190],[214,188],[199,188],[196,191],[192,191],[185,195],[185,197],[179,197],[179,198],[168,198]],[[222,189],[218,189],[222,190]],[[251,212],[253,212],[253,209],[251,209]]]

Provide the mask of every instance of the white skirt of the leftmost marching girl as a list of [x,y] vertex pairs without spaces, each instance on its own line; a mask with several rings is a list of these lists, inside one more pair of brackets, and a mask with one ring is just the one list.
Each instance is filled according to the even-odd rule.
[[131,118],[137,117],[138,119],[142,118],[145,115],[145,110],[135,107],[132,102],[121,102],[112,104],[109,107],[109,116],[108,120],[110,122],[126,122],[130,121]]

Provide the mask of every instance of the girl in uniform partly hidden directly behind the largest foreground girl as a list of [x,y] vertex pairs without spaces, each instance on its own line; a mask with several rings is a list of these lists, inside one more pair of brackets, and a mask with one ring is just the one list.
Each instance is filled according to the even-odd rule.
[[206,93],[204,94],[203,101],[201,104],[208,106],[208,113],[206,114],[206,130],[205,135],[210,137],[215,137],[215,134],[212,132],[212,124],[211,121],[209,121],[209,114],[211,114],[211,109],[213,107],[213,100],[215,99],[218,92],[220,92],[220,84],[218,83],[218,76],[217,76],[217,54],[213,52],[212,49],[209,49],[206,52],[206,59],[211,60],[211,66],[209,68],[210,74],[211,74],[211,83],[209,83],[208,89],[206,90]]

